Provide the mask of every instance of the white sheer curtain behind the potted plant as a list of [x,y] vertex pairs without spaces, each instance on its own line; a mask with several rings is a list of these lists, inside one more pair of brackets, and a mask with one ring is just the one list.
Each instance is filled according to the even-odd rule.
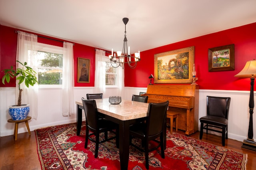
[[[28,34],[25,32],[18,31],[18,42],[17,42],[17,55],[16,60],[21,63],[27,62],[28,66],[32,67],[36,73],[37,69],[37,36],[34,34]],[[20,63],[16,63],[17,68],[22,68]],[[38,78],[38,75],[36,75]],[[20,85],[22,91],[22,104],[30,104],[29,116],[32,119],[37,119],[38,116],[38,84],[34,86],[26,87],[24,83]],[[18,102],[18,81],[16,81],[16,104]]]

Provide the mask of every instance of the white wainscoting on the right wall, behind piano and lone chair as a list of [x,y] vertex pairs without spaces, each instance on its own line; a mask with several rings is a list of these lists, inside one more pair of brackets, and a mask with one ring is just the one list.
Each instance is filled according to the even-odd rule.
[[[132,94],[139,94],[140,91],[146,92],[146,89],[147,88],[125,87],[125,97],[132,99]],[[250,91],[199,90],[198,118],[206,115],[206,96],[231,97],[228,117],[228,138],[238,141],[246,139],[248,136],[250,117],[248,107]],[[253,116],[253,129],[256,130],[256,114],[253,114]],[[200,121],[198,120],[198,122],[198,129],[200,129]],[[221,136],[221,134],[217,132],[208,132]]]

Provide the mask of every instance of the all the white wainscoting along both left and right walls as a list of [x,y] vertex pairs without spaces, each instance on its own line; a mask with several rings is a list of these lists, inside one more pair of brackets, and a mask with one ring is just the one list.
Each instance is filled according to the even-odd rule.
[[[132,95],[146,92],[147,88],[125,87],[122,99],[131,100]],[[103,97],[117,95],[118,89],[106,89]],[[74,99],[80,100],[86,97],[86,93],[94,93],[94,87],[75,87]],[[243,141],[248,135],[249,125],[249,91],[226,91],[226,90],[199,90],[199,118],[206,115],[206,96],[231,97],[228,118],[228,138]],[[8,123],[10,119],[8,107],[15,104],[15,88],[1,87],[0,89],[0,136],[13,134],[14,123]],[[63,117],[61,112],[61,89],[39,89],[38,119],[29,121],[30,130],[53,125],[76,122],[76,114]],[[74,103],[76,111],[76,104]],[[85,117],[83,116],[83,120]],[[256,115],[253,117],[254,130],[256,129]],[[198,125],[200,129],[200,123]],[[19,124],[18,133],[27,132],[24,123]],[[214,132],[215,133],[215,132]],[[219,133],[216,133],[220,135]],[[205,135],[205,134],[204,134]]]

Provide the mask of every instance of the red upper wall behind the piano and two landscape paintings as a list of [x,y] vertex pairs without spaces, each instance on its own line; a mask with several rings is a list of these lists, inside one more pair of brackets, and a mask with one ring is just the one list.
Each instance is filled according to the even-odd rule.
[[[125,67],[126,87],[147,87],[148,77],[154,75],[154,54],[194,46],[196,77],[200,89],[250,90],[250,79],[234,77],[246,61],[256,59],[256,23],[172,43],[141,52],[136,69]],[[208,71],[208,49],[234,44],[235,69],[232,71]],[[153,79],[152,79],[153,81]]]

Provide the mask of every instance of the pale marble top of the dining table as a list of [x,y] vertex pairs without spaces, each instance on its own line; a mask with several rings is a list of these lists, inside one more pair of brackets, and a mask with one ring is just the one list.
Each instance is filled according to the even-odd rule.
[[[147,116],[148,103],[122,100],[120,104],[112,105],[106,99],[95,99],[98,112],[120,119],[122,121],[138,119]],[[77,105],[83,106],[82,101],[76,101]]]

